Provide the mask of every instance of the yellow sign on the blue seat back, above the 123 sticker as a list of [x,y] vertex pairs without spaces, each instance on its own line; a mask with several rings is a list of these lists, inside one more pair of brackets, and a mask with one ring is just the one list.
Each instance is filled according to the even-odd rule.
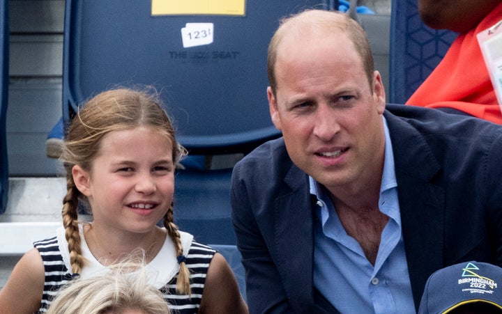
[[152,15],[245,15],[245,0],[152,0]]

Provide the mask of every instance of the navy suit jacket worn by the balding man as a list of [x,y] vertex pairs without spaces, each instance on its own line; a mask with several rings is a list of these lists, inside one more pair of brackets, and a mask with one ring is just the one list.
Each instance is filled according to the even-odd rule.
[[[437,269],[469,260],[502,266],[502,126],[393,104],[384,116],[418,308]],[[283,139],[236,164],[231,205],[250,312],[336,313],[314,288],[312,198]]]

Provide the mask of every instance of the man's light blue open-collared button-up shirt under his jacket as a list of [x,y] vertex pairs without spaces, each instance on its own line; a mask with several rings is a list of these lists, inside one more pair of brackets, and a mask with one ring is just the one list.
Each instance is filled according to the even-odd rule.
[[379,207],[390,219],[373,266],[347,235],[328,191],[310,178],[317,196],[314,221],[314,286],[340,313],[416,313],[404,251],[392,143],[385,118],[385,162]]

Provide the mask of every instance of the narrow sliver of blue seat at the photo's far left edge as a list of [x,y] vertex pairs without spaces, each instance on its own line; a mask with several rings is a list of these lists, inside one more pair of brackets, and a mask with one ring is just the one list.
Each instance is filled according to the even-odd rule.
[[0,214],[5,212],[8,197],[8,161],[6,116],[8,101],[9,27],[8,1],[0,0]]

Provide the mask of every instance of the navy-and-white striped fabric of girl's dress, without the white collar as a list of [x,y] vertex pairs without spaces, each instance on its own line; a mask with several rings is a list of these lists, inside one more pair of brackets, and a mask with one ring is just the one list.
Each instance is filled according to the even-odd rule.
[[[66,267],[61,252],[59,251],[56,237],[34,243],[34,246],[42,256],[45,267],[45,284],[42,297],[42,304],[38,313],[45,313],[51,300],[57,295],[61,286],[72,280],[72,273]],[[178,295],[176,293],[176,279],[178,274],[172,278],[167,285],[160,289],[164,299],[169,303],[169,308],[173,314],[198,313],[201,302],[206,274],[216,250],[210,246],[192,242],[185,264],[190,269],[190,288],[192,295]]]

